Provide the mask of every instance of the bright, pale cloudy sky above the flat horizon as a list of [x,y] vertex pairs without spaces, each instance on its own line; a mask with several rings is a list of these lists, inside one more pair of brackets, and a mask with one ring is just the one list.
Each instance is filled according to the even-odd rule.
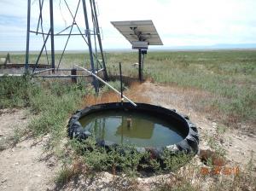
[[[44,32],[49,31],[49,1],[44,0]],[[79,0],[67,0],[74,12]],[[86,0],[89,3],[89,0]],[[163,46],[154,49],[256,44],[256,0],[96,0],[104,49],[131,49],[131,44],[111,25],[118,20],[153,20]],[[84,31],[80,6],[77,23]],[[55,32],[69,26],[72,17],[64,0],[54,0]],[[32,0],[32,30],[38,23],[38,0]],[[0,51],[26,49],[27,1],[0,1]],[[74,32],[77,32],[74,30]],[[63,49],[67,37],[55,38]],[[31,34],[31,49],[43,45],[42,36]],[[47,43],[50,49],[49,43]],[[86,49],[81,37],[72,37],[67,49]],[[256,48],[256,45],[255,47]]]

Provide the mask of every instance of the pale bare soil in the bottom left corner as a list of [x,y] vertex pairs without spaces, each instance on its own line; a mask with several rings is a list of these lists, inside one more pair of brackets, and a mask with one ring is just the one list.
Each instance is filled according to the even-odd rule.
[[[24,130],[29,119],[25,109],[0,110],[1,139],[7,149],[0,152],[0,190],[47,190],[54,183],[56,161],[44,153],[47,136],[36,140],[29,135],[10,144],[15,130]],[[20,135],[15,135],[20,136]]]

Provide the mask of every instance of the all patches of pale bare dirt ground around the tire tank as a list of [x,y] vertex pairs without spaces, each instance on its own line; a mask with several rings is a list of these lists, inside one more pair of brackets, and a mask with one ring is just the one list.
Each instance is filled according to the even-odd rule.
[[[139,87],[142,96],[162,107],[175,108],[178,113],[184,113],[194,122],[200,133],[200,148],[209,149],[210,137],[226,150],[226,157],[230,165],[242,168],[256,152],[256,137],[252,133],[241,130],[225,130],[219,132],[222,124],[218,120],[209,118],[207,113],[202,113],[196,107],[196,101],[202,96],[210,96],[207,92],[176,86],[162,86],[145,82]],[[0,140],[4,142],[8,137],[14,136],[15,129],[25,129],[29,121],[25,109],[0,110]],[[241,124],[245,125],[245,124]],[[113,176],[107,172],[102,177],[84,179],[79,177],[67,185],[58,188],[54,178],[60,169],[54,156],[44,153],[44,144],[47,136],[35,140],[30,136],[22,137],[15,146],[0,151],[0,190],[111,190],[108,183],[113,181]],[[3,144],[3,143],[2,143]],[[200,162],[200,161],[199,161]],[[255,163],[255,157],[253,163]],[[137,181],[143,190],[148,190],[148,185],[157,180],[155,177],[138,178]],[[120,182],[119,182],[120,183]],[[126,182],[121,182],[125,184]],[[107,186],[106,186],[107,185]]]

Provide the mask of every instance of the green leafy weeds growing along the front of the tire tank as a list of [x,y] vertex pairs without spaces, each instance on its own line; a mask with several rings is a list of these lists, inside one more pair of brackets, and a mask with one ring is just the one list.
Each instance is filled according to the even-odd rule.
[[125,173],[131,177],[143,174],[160,174],[167,171],[177,171],[189,163],[192,155],[187,153],[172,153],[165,150],[161,157],[154,158],[149,152],[138,152],[132,145],[99,146],[95,137],[83,141],[71,140],[70,145],[90,171],[109,171],[113,175]]

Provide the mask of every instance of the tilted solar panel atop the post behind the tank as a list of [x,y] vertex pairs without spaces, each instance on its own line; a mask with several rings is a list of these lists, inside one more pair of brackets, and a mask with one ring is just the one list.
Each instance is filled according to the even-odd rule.
[[163,45],[152,20],[112,21],[112,25],[125,38],[133,42],[148,42],[148,45]]

